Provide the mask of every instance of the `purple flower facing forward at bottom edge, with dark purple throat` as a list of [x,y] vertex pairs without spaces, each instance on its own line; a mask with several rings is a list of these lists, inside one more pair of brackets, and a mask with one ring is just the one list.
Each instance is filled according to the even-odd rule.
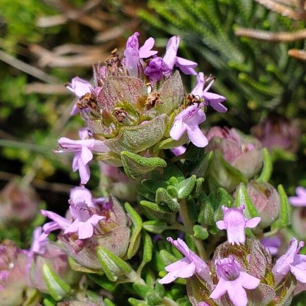
[[219,282],[210,298],[218,299],[227,292],[235,306],[246,306],[245,289],[255,289],[259,286],[260,279],[241,271],[241,266],[233,255],[216,261],[216,271]]

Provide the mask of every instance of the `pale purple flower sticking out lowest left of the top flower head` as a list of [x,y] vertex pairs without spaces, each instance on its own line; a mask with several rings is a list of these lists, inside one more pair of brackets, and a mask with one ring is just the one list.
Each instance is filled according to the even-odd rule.
[[89,162],[93,155],[91,150],[96,152],[107,152],[109,148],[101,140],[91,139],[87,129],[81,129],[79,132],[81,140],[71,140],[62,137],[58,140],[62,150],[55,150],[56,153],[74,153],[72,170],[79,170],[81,184],[86,184],[90,178]]

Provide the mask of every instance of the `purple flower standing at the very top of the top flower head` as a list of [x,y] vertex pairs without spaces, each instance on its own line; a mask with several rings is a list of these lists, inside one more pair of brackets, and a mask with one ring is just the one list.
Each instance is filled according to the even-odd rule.
[[151,50],[154,46],[154,38],[148,38],[143,46],[139,48],[138,36],[139,33],[135,32],[127,39],[126,49],[124,51],[124,64],[129,74],[134,77],[138,76],[139,59],[145,59],[157,54],[157,51]]

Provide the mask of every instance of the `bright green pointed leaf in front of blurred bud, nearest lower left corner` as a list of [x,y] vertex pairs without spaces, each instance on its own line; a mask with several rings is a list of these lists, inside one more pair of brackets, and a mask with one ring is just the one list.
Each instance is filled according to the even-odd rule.
[[62,299],[67,293],[70,292],[70,286],[58,276],[48,264],[42,266],[43,279],[47,285],[49,294],[55,299]]

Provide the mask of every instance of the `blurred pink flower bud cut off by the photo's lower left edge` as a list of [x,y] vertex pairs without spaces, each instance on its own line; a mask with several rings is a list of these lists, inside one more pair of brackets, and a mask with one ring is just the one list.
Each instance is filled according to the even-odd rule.
[[5,240],[0,244],[0,301],[2,306],[21,305],[28,287],[28,252]]

